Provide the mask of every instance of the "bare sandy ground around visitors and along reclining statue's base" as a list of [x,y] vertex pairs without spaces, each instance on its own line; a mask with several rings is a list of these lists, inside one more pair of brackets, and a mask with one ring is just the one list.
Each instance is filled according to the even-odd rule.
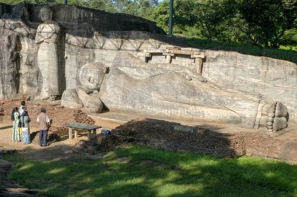
[[[90,116],[95,120],[95,125],[102,126],[104,129],[114,129],[117,126],[123,124],[124,122],[143,118],[144,116],[139,114],[130,114],[130,113],[122,113],[122,112],[114,112],[109,111],[107,113],[100,113],[100,114],[90,114]],[[148,117],[148,118],[155,118],[155,117]],[[156,118],[158,119],[158,118]],[[171,122],[178,122],[182,125],[187,126],[195,126],[200,128],[206,128],[210,131],[217,132],[217,133],[236,133],[240,131],[248,131],[248,132],[256,132],[260,134],[269,135],[269,132],[266,128],[261,128],[258,130],[254,129],[245,129],[240,128],[236,125],[228,125],[228,124],[215,124],[215,123],[200,123],[200,122],[189,122],[189,121],[178,121],[178,120],[168,120],[163,119],[166,121]],[[30,128],[31,133],[35,131],[39,131],[39,128]],[[97,132],[98,133],[98,132]],[[37,159],[59,159],[64,158],[67,159],[68,157],[75,157],[77,154],[65,154],[65,151],[72,149],[76,143],[81,140],[87,140],[87,133],[79,133],[78,138],[74,138],[73,140],[69,140],[68,136],[64,136],[59,142],[49,142],[49,147],[39,147],[36,144],[28,144],[22,145],[20,142],[14,142],[11,140],[12,138],[12,122],[11,124],[8,123],[0,123],[0,150],[3,147],[7,148],[15,148],[17,150],[21,150],[21,154],[24,156],[37,158]],[[284,149],[284,153],[288,155],[288,158],[297,160],[297,125],[289,124],[288,128],[283,129],[276,134],[270,135],[273,138],[278,139],[286,139],[291,140],[291,144],[289,143]],[[80,155],[81,157],[82,155]],[[88,157],[98,158],[102,155],[87,155]]]

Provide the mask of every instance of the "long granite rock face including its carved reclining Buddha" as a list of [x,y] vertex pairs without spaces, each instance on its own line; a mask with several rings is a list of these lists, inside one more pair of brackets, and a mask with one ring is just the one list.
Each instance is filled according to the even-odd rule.
[[[60,29],[53,42],[57,66],[46,66],[57,73],[59,92],[48,96],[63,93],[64,106],[100,112],[105,104],[166,118],[266,126],[274,132],[297,122],[297,65],[292,62],[190,48],[136,16],[49,7]],[[44,24],[41,8],[0,3],[1,99],[17,94],[45,99],[48,79],[38,53],[47,50],[36,42]]]

